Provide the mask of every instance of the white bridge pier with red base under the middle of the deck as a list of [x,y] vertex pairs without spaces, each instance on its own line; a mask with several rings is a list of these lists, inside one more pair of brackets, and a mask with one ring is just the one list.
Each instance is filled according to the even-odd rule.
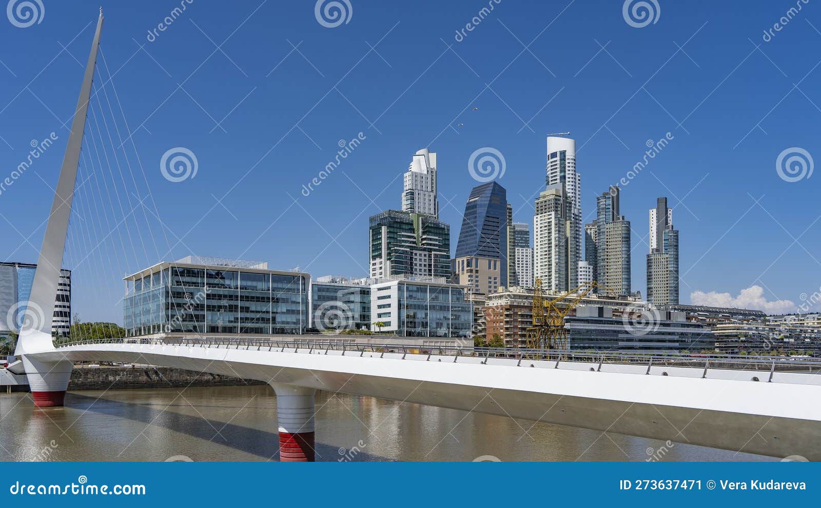
[[280,462],[314,461],[314,388],[272,382],[277,394]]

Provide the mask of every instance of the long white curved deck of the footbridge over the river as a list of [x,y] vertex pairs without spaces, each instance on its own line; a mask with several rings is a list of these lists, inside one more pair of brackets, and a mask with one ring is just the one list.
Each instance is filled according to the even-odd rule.
[[44,364],[154,364],[268,382],[277,406],[283,396],[299,396],[299,411],[277,408],[280,432],[308,431],[311,442],[319,389],[821,460],[821,362],[814,359],[341,344],[306,336],[85,341],[28,356]]

